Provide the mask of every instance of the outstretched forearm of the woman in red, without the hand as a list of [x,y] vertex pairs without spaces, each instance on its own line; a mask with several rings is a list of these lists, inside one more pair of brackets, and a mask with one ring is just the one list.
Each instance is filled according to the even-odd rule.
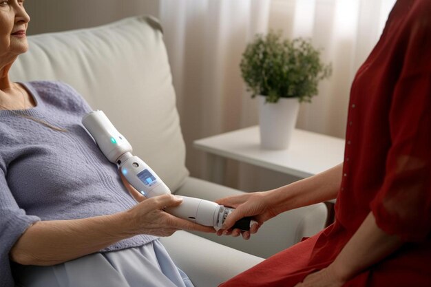
[[338,164],[310,178],[268,191],[269,202],[278,213],[298,207],[333,200],[341,185],[343,164]]

